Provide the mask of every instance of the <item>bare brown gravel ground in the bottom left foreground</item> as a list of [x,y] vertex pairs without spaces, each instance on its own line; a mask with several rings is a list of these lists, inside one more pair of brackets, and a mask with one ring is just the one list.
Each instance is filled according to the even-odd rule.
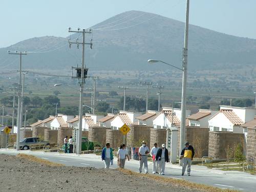
[[134,177],[117,169],[49,166],[16,156],[0,155],[0,191],[186,191],[171,183]]

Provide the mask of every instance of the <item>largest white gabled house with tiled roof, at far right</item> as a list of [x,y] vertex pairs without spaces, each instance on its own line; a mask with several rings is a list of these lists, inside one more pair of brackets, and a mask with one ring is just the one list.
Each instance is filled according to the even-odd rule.
[[208,120],[210,131],[243,133],[242,124],[254,119],[256,109],[220,106],[220,111]]

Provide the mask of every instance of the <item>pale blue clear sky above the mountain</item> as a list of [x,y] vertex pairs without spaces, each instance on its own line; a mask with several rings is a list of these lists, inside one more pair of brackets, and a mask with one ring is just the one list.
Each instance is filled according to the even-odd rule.
[[[46,35],[67,37],[68,27],[89,28],[139,10],[182,22],[186,0],[1,0],[0,48]],[[189,24],[256,39],[255,0],[190,0]]]

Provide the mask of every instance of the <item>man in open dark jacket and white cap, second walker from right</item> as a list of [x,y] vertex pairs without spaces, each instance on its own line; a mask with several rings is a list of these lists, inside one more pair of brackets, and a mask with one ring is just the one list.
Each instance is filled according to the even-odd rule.
[[165,144],[162,144],[162,147],[159,148],[156,160],[159,162],[159,175],[164,175],[165,162],[169,162],[168,150]]

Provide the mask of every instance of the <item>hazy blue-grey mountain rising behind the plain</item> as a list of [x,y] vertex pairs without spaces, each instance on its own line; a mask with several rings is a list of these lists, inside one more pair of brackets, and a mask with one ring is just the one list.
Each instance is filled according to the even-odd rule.
[[[132,26],[132,27],[130,27]],[[164,70],[164,65],[148,65],[149,58],[161,59],[181,66],[184,23],[160,15],[128,11],[92,26],[87,42],[93,39],[93,49],[86,47],[86,65],[91,70]],[[118,29],[118,30],[117,30]],[[188,69],[220,69],[256,63],[256,40],[237,37],[189,25]],[[2,60],[7,50],[28,50],[24,68],[64,69],[80,65],[81,46],[72,45],[81,35],[70,37],[34,37],[0,49]],[[52,51],[53,50],[53,51]],[[12,55],[12,57],[15,57]],[[9,58],[10,61],[13,58]],[[8,61],[6,62],[8,64]],[[4,66],[0,63],[0,68]],[[8,68],[15,68],[12,63]]]

